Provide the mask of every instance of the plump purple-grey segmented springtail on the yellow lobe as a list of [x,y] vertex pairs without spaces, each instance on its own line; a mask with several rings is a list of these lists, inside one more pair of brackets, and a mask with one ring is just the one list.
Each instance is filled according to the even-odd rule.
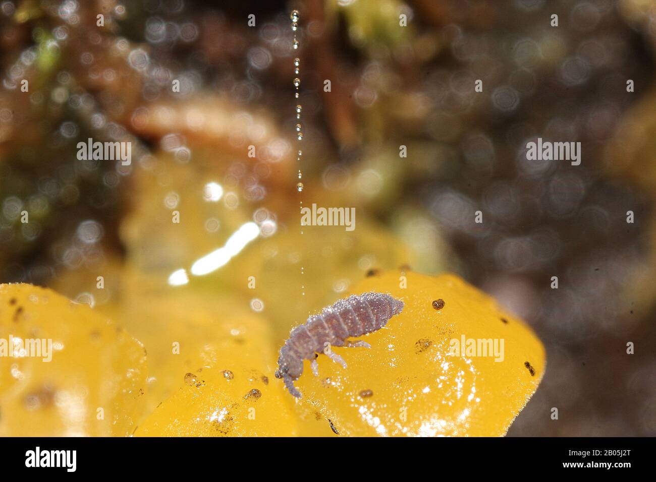
[[403,302],[389,294],[369,292],[352,295],[324,308],[320,315],[312,315],[304,325],[293,329],[280,349],[276,378],[282,378],[289,393],[300,398],[294,380],[303,372],[303,360],[312,360],[312,372],[319,374],[316,353],[325,353],[331,360],[346,368],[346,362],[331,346],[365,347],[361,340],[346,340],[380,330],[389,319],[401,313]]

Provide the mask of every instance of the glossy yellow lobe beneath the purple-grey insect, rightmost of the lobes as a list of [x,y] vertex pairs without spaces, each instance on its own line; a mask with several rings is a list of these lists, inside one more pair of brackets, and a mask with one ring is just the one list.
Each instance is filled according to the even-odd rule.
[[[403,312],[361,337],[371,349],[333,348],[348,368],[319,355],[316,377],[307,362],[296,383],[302,412],[330,419],[340,435],[504,435],[544,374],[533,331],[455,275],[392,271],[350,290],[367,291],[403,300]],[[468,340],[481,349],[489,340],[490,351]]]

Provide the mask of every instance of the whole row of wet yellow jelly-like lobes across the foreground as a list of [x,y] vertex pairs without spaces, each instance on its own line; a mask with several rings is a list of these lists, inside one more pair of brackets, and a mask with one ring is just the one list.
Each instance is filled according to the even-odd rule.
[[[300,400],[274,378],[279,343],[267,317],[240,298],[130,271],[108,289],[115,300],[91,310],[50,290],[2,285],[2,337],[52,338],[56,348],[50,363],[0,358],[0,410],[10,414],[0,433],[498,436],[544,374],[531,329],[455,275],[376,271],[333,296],[328,303],[386,292],[405,306],[361,337],[370,349],[333,348],[346,369],[319,355],[316,377],[306,362]],[[101,312],[148,348],[148,382],[144,348]]]

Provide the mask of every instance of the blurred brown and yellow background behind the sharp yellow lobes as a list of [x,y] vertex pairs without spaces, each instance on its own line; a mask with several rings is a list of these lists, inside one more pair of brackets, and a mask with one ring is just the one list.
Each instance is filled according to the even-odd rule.
[[[460,273],[543,340],[543,384],[509,435],[656,434],[652,1],[3,0],[0,28],[0,281],[118,317],[162,359],[152,404],[181,382],[163,360],[190,317],[207,331],[256,311],[281,342],[404,266]],[[79,161],[89,137],[132,142],[131,165]],[[537,137],[581,142],[581,165],[527,161]],[[356,230],[300,234],[299,200],[356,207]],[[249,222],[258,239],[190,273]]]

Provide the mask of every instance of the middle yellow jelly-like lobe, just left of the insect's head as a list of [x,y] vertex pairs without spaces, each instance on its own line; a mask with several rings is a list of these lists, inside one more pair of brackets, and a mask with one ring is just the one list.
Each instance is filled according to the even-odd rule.
[[274,378],[268,321],[247,298],[171,287],[128,267],[105,271],[97,291],[114,299],[96,310],[148,348],[148,416],[135,435],[297,435],[292,402]]

